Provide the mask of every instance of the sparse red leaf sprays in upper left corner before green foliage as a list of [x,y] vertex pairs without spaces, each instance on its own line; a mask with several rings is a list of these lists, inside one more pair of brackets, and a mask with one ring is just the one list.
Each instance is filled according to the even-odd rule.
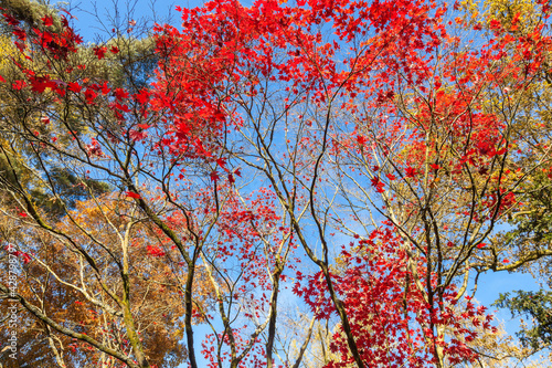
[[[53,27],[52,18],[46,15],[42,19],[42,25],[28,29],[20,27],[20,21],[11,14],[3,14],[6,22],[11,27],[14,43],[24,60],[24,62],[19,62],[18,57],[12,59],[13,65],[22,75],[22,78],[10,81],[12,91],[46,94],[49,97],[54,97],[54,102],[75,97],[74,101],[84,102],[86,105],[105,103],[119,122],[126,119],[126,114],[146,118],[148,114],[155,112],[149,106],[151,99],[149,88],[130,94],[124,88],[112,90],[107,81],[92,80],[86,76],[83,71],[87,65],[78,64],[79,57],[74,57],[79,52],[77,46],[83,42],[82,38],[68,25],[64,15],[60,17],[61,27]],[[98,45],[93,51],[98,60],[104,59],[107,52],[114,55],[119,53],[119,49],[115,45],[110,49]],[[45,67],[38,71],[26,66],[33,63],[45,63]],[[55,71],[64,72],[56,73]],[[51,73],[56,75],[53,76]],[[0,77],[0,82],[6,82],[6,80]],[[51,96],[50,92],[54,95]],[[130,128],[128,134],[134,140],[144,140],[147,137],[146,128],[148,126],[144,125]],[[56,138],[53,139],[56,140]],[[89,147],[92,156],[100,156],[102,148],[98,144],[92,143],[92,146],[94,146]]]

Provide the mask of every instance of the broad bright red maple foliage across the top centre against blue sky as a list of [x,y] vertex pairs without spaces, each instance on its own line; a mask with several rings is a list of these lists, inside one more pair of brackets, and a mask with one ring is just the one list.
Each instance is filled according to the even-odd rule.
[[[412,0],[309,1],[308,7],[296,8],[270,0],[244,8],[226,0],[180,10],[182,31],[156,29],[163,71],[157,75],[157,88],[162,93],[159,106],[174,112],[176,134],[189,140],[198,124],[209,124],[215,133],[216,123],[233,111],[230,101],[257,95],[259,78],[284,82],[293,93],[309,90],[318,103],[332,91],[358,92],[360,83],[373,80],[379,65],[422,80],[426,62],[417,53],[431,52],[439,43],[445,8]],[[341,42],[325,42],[312,27],[321,23],[331,24]],[[342,44],[358,42],[362,51],[343,60],[348,69],[339,66],[336,55]],[[278,54],[286,57],[275,57]],[[382,88],[390,78],[383,74],[379,78],[381,83],[372,81],[374,87],[364,93],[389,97],[392,92]]]

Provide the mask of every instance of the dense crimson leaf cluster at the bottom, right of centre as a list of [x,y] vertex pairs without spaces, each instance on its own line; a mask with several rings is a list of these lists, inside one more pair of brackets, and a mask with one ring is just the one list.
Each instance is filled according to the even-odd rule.
[[[367,367],[432,366],[436,346],[443,348],[450,362],[475,359],[466,346],[477,336],[470,326],[485,324],[490,329],[491,316],[469,302],[459,305],[454,287],[440,301],[429,304],[415,285],[401,239],[390,229],[373,231],[369,239],[351,244],[350,249],[343,246],[340,259],[343,271],[332,274],[333,287],[350,318]],[[425,273],[423,259],[416,269],[418,274]],[[298,278],[302,280],[302,275],[298,274]],[[321,273],[297,282],[294,287],[321,319],[336,312],[326,290]],[[446,340],[437,336],[438,326],[449,329]],[[328,367],[354,362],[341,330],[335,333],[330,348],[341,358]]]

